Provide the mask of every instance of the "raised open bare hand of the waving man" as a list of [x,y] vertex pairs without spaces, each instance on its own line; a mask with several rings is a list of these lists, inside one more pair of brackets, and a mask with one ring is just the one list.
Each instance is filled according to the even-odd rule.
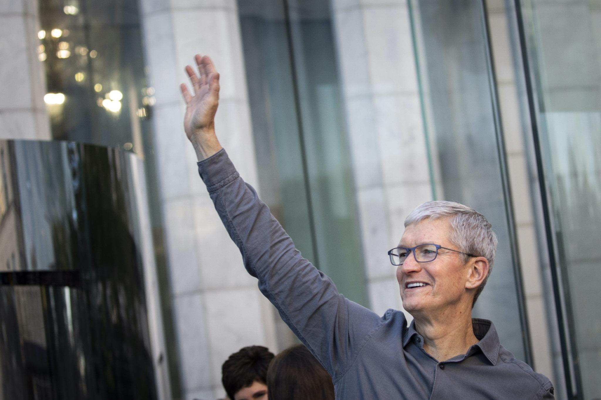
[[[197,54],[194,57],[198,65],[198,76],[195,70],[186,65],[186,73],[192,83],[192,91],[188,91],[185,83],[180,85],[186,101],[184,130],[195,150],[199,160],[207,158],[220,149],[221,145],[215,136],[215,113],[219,105],[219,73],[209,56]],[[200,152],[199,152],[200,151]]]

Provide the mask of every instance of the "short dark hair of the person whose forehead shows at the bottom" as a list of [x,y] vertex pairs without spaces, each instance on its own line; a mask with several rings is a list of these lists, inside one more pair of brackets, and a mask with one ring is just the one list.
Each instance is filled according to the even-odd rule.
[[267,382],[267,368],[273,353],[267,347],[248,346],[231,354],[221,366],[221,383],[228,398],[234,400],[238,390],[251,386],[254,381]]

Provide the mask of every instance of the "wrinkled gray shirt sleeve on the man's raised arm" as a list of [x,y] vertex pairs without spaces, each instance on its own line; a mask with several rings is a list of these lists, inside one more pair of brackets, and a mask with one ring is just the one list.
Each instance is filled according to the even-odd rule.
[[334,282],[302,257],[224,149],[200,161],[198,172],[261,292],[332,378],[343,375],[381,318],[338,293]]

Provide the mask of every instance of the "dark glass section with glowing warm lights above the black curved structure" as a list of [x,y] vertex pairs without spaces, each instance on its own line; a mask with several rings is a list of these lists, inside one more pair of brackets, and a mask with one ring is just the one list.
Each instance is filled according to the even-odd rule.
[[[138,2],[40,1],[40,45],[53,139],[142,154],[145,88]],[[47,95],[48,96],[48,95]]]

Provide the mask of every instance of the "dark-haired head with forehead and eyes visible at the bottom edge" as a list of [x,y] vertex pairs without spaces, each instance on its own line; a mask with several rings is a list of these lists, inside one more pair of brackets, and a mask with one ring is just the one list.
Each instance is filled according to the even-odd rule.
[[267,368],[273,353],[263,346],[243,347],[221,367],[221,382],[230,400],[266,400]]

